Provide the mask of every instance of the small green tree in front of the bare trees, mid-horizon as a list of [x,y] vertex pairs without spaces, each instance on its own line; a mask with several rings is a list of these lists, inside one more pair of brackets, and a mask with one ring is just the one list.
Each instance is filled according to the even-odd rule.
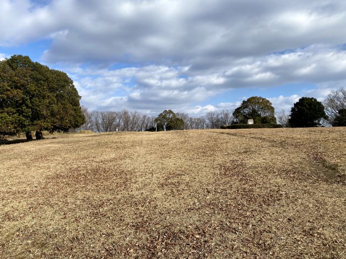
[[163,130],[183,130],[184,120],[178,118],[172,110],[165,110],[155,119],[157,131]]

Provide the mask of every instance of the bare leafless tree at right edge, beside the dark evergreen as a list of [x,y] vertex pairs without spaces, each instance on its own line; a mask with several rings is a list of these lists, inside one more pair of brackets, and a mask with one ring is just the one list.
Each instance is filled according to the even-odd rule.
[[346,109],[346,89],[340,87],[339,90],[332,90],[332,92],[323,101],[325,111],[329,117],[329,122],[333,125],[335,120],[339,118],[340,111]]

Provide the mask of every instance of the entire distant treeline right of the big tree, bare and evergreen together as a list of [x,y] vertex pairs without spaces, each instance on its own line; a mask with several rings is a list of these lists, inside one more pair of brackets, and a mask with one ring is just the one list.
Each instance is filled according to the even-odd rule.
[[[82,130],[110,131],[162,131],[219,128],[276,128],[283,127],[346,126],[346,90],[332,91],[322,102],[315,98],[302,97],[289,114],[275,109],[269,100],[253,96],[244,100],[234,111],[209,111],[204,116],[194,117],[187,113],[165,110],[158,116],[140,114],[138,111],[87,111],[82,109],[86,123]],[[253,126],[247,125],[249,119]]]

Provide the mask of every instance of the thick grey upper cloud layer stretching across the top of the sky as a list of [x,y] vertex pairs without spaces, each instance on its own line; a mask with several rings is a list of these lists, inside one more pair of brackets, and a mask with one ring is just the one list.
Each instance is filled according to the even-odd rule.
[[[346,42],[346,2],[1,0],[0,44],[51,37],[50,62],[222,63]],[[21,17],[21,19],[18,19]]]

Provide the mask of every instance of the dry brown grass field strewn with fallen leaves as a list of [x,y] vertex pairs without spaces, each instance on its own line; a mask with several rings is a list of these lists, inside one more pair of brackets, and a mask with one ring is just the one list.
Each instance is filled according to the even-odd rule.
[[346,258],[346,128],[56,137],[0,146],[1,259]]

